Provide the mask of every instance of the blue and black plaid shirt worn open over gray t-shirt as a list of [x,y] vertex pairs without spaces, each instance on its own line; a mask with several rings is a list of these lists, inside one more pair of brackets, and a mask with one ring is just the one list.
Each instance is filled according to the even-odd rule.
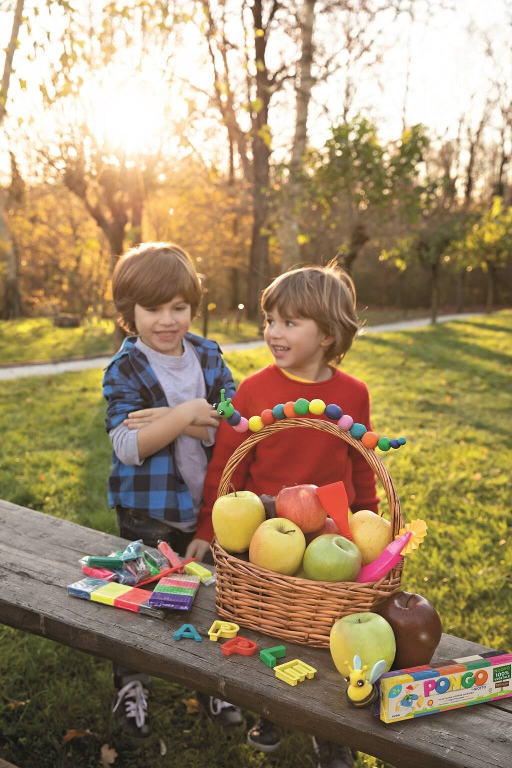
[[[226,397],[232,397],[233,376],[222,359],[219,345],[195,333],[187,333],[185,338],[193,344],[203,369],[208,402],[220,402],[221,389],[226,389]],[[136,341],[137,336],[124,339],[105,369],[107,432],[120,425],[131,411],[169,405],[147,357],[135,346]],[[210,459],[211,449],[205,451]],[[111,507],[120,505],[146,512],[157,520],[193,521],[192,497],[174,461],[173,443],[148,456],[140,466],[123,464],[114,452],[108,503]]]

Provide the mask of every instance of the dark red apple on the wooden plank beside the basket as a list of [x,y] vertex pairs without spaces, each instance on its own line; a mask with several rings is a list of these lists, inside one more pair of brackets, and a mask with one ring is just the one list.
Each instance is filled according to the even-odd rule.
[[394,670],[430,664],[443,628],[438,611],[421,594],[396,592],[379,604],[375,612],[391,624],[395,633]]

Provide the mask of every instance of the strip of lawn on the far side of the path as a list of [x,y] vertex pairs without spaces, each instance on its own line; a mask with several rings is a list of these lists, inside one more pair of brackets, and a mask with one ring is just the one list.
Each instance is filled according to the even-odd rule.
[[[392,308],[367,309],[360,313],[365,326],[426,316],[426,310],[406,312]],[[226,322],[228,320],[229,322]],[[191,329],[194,333],[203,335],[203,318],[199,317]],[[220,344],[251,341],[259,338],[259,325],[242,320],[236,327],[229,316],[210,313],[207,332],[210,339],[215,339]],[[56,328],[48,317],[0,320],[0,364],[108,355],[114,353],[113,333],[113,321],[98,318],[84,320],[80,328]]]

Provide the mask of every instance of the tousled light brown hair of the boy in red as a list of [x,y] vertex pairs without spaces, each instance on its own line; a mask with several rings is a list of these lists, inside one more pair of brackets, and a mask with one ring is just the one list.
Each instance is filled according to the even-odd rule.
[[279,275],[263,291],[261,306],[263,312],[277,308],[283,317],[315,320],[326,336],[334,338],[325,350],[326,362],[341,362],[359,329],[354,283],[335,260]]

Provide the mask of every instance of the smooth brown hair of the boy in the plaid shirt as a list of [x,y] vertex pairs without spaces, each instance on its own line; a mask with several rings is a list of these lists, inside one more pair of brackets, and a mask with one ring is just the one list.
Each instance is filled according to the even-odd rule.
[[194,317],[200,305],[201,283],[190,257],[173,243],[142,243],[117,262],[112,275],[112,296],[117,322],[137,333],[135,305],[160,306],[183,296]]

